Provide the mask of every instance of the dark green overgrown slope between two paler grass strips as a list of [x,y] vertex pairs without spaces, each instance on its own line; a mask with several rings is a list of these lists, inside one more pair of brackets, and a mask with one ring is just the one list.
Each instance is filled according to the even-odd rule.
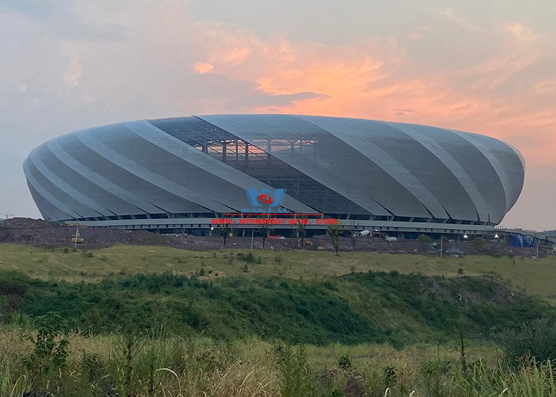
[[489,339],[554,307],[489,277],[428,277],[351,273],[321,280],[284,277],[201,281],[167,271],[110,276],[86,284],[0,273],[3,322],[25,322],[57,311],[93,333],[132,326],[217,339],[247,335],[308,344],[384,343],[395,346],[457,337]]

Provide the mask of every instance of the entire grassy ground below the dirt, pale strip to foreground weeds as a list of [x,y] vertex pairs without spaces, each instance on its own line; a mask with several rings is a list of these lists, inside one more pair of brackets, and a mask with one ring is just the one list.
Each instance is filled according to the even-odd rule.
[[[238,253],[0,244],[0,395],[556,396],[550,364],[509,369],[489,339],[554,307],[458,276],[556,303],[556,257]],[[73,330],[59,365],[33,331],[51,310]]]

